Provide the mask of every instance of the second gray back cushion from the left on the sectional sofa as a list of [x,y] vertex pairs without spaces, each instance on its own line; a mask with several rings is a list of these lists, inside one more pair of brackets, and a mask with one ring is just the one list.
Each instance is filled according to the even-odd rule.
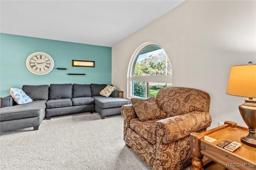
[[71,98],[72,98],[72,84],[50,84],[49,99],[71,99]]

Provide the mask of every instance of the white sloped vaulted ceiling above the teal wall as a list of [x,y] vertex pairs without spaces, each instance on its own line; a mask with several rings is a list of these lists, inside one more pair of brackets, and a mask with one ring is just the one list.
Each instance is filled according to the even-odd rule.
[[0,32],[112,47],[182,2],[1,0]]

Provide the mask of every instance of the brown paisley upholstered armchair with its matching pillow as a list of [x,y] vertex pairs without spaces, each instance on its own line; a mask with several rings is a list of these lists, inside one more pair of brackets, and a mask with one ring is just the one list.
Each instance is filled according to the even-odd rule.
[[164,87],[156,98],[131,99],[121,108],[124,141],[153,170],[179,170],[191,162],[189,135],[212,119],[210,95],[186,87]]

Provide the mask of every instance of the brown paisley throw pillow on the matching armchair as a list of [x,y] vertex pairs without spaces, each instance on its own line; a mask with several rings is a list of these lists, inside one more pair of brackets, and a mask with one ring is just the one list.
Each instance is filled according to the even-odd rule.
[[166,117],[166,113],[156,105],[154,96],[148,99],[132,98],[131,102],[140,121]]

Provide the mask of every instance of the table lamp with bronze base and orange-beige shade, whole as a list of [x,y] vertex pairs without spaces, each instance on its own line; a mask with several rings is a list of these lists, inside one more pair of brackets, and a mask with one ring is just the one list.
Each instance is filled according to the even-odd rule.
[[226,94],[248,97],[239,106],[240,114],[249,128],[249,134],[241,142],[256,148],[256,64],[236,65],[230,69]]

